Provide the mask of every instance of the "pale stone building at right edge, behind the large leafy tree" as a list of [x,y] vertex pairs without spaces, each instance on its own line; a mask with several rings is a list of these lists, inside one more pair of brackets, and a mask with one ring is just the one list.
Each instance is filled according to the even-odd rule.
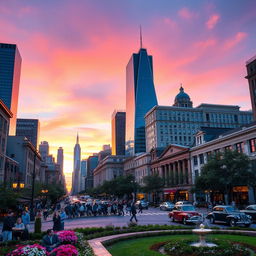
[[[196,134],[196,144],[190,149],[190,165],[192,172],[192,183],[201,174],[202,167],[206,164],[211,155],[225,150],[236,150],[246,154],[251,160],[251,170],[256,171],[256,122],[252,122],[242,127],[229,130],[227,132],[217,134],[204,127]],[[211,136],[210,136],[211,135]],[[215,135],[215,136],[213,136]],[[225,173],[223,173],[225,177]],[[239,184],[232,189],[233,200],[236,205],[255,204],[255,187]],[[195,193],[194,201],[225,201],[222,193],[214,193],[211,195]]]

